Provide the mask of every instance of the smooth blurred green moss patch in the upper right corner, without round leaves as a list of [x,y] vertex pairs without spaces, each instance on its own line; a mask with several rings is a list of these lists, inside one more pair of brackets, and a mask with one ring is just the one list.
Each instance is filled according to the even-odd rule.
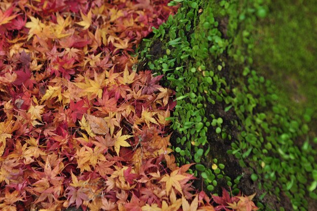
[[274,1],[269,8],[267,19],[252,34],[257,71],[276,85],[279,101],[292,114],[308,112],[317,119],[315,1]]

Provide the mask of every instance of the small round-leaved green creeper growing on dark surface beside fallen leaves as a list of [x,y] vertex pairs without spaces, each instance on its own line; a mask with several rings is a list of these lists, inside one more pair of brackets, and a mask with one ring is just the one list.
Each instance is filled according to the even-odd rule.
[[[143,64],[165,74],[165,85],[176,91],[177,105],[171,120],[172,128],[180,134],[173,145],[177,161],[195,162],[192,172],[213,193],[218,186],[230,186],[233,194],[239,189],[244,191],[246,184],[240,181],[247,178],[257,186],[257,206],[285,210],[290,208],[290,200],[293,209],[307,210],[307,200],[317,199],[317,152],[311,146],[317,138],[312,136],[314,133],[308,135],[313,110],[296,113],[299,107],[286,106],[291,95],[281,98],[285,89],[281,85],[276,89],[277,80],[272,83],[266,74],[265,78],[261,75],[269,66],[274,73],[288,69],[284,74],[311,80],[299,92],[310,98],[304,108],[313,108],[311,97],[317,92],[315,88],[308,91],[316,80],[311,75],[314,68],[309,67],[313,56],[296,61],[304,56],[307,46],[298,44],[301,48],[292,61],[293,68],[283,66],[287,63],[281,56],[287,51],[283,45],[272,45],[274,58],[270,58],[264,46],[271,42],[270,34],[279,26],[264,26],[268,35],[261,34],[259,27],[267,21],[262,18],[273,3],[177,0],[170,4],[179,3],[178,13],[154,30],[152,40],[144,40],[140,52],[147,58]],[[282,3],[279,6],[286,7]],[[275,17],[274,13],[269,20],[271,17]],[[256,38],[260,36],[264,39],[257,46]],[[284,35],[280,36],[276,39],[284,39]],[[304,38],[301,41],[306,43]],[[292,60],[291,52],[285,58]],[[260,73],[255,70],[257,65]],[[294,73],[299,68],[301,71]],[[288,108],[297,115],[289,115]],[[233,157],[243,171],[232,164]],[[236,173],[229,177],[230,171]]]

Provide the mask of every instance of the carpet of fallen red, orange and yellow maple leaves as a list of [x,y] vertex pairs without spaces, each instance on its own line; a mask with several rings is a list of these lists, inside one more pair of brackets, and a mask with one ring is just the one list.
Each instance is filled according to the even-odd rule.
[[167,3],[1,1],[0,210],[214,210],[168,148],[174,92],[133,71]]

